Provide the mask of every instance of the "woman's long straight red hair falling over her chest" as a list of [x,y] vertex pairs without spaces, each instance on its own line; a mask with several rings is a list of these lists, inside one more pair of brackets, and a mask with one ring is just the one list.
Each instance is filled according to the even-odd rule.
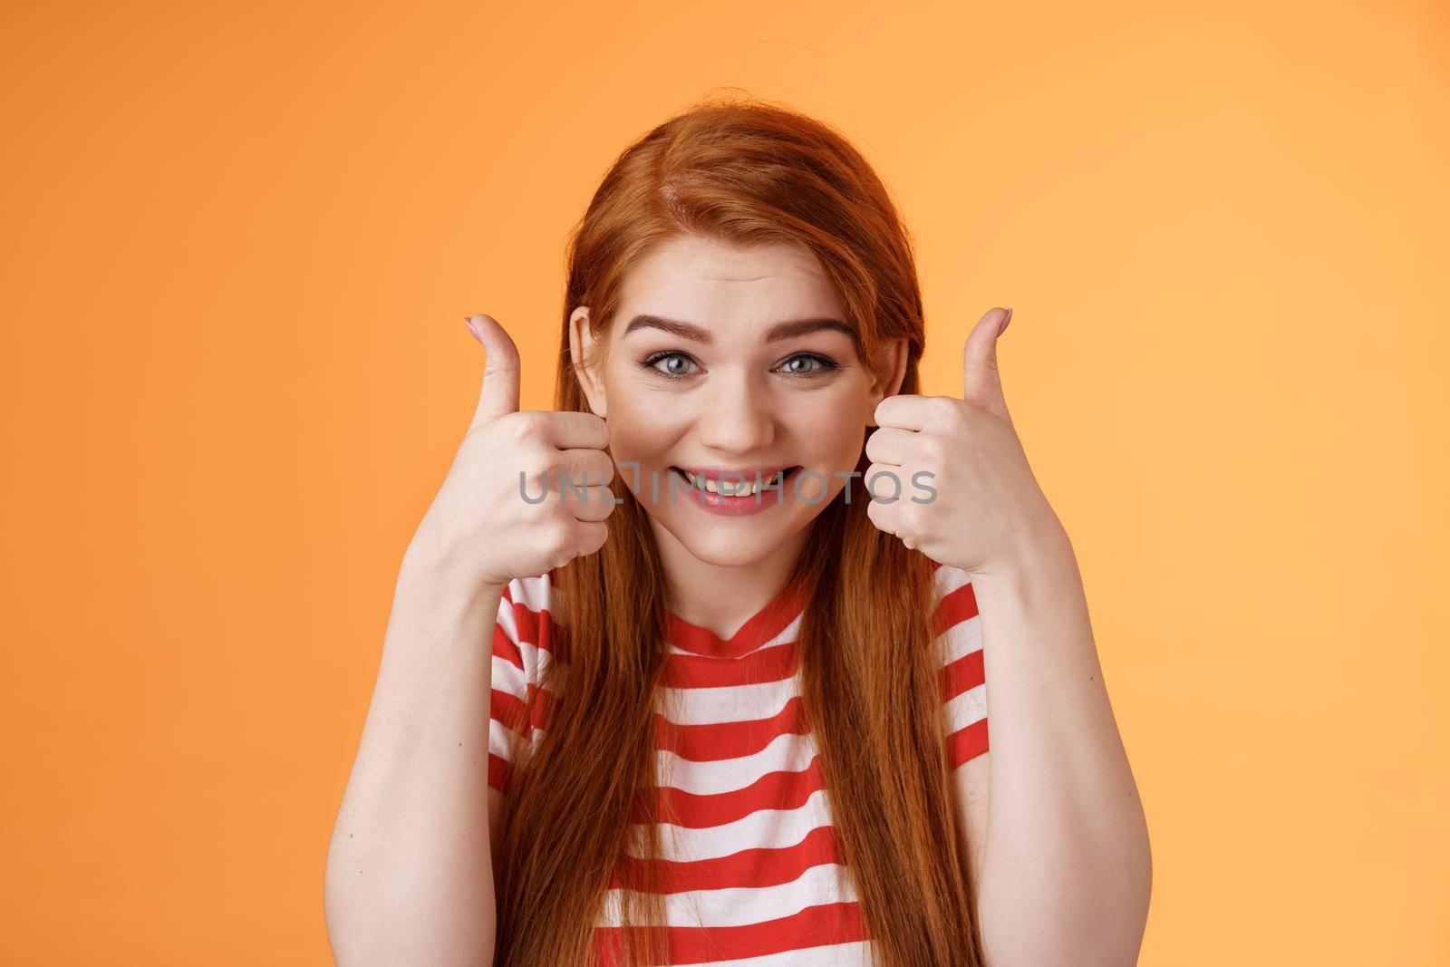
[[[574,228],[557,409],[589,412],[568,354],[573,309],[589,306],[602,338],[629,267],[682,232],[805,245],[840,294],[861,358],[905,338],[900,391],[918,391],[921,290],[884,186],[840,132],[731,93],[625,149]],[[867,465],[863,452],[857,468]],[[622,478],[612,484],[624,503],[609,516],[605,547],[555,573],[560,634],[531,694],[531,706],[547,703],[547,728],[532,748],[515,739],[496,857],[499,967],[594,964],[593,924],[615,864],[626,854],[661,855],[655,823],[667,818],[637,790],[658,781],[666,584],[645,510]],[[800,690],[842,868],[877,963],[980,967],[966,829],[947,770],[931,563],[877,531],[854,493],[812,522],[792,576],[808,594],[796,642]],[[664,922],[663,893],[650,884],[625,890],[622,908],[626,925]],[[621,964],[670,963],[663,929],[622,934]]]

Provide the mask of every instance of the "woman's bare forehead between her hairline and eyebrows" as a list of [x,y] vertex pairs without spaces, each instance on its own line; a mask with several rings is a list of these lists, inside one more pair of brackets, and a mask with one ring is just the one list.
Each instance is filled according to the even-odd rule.
[[625,318],[650,313],[713,331],[766,328],[806,316],[842,318],[816,257],[795,244],[741,248],[676,236],[625,274],[621,299]]

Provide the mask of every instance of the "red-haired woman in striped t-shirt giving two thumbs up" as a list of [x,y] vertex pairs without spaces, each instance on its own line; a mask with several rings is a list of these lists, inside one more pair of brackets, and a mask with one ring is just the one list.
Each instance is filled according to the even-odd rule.
[[918,396],[909,238],[840,133],[735,100],[625,151],[555,412],[467,320],[483,391],[329,851],[338,961],[1135,963],[1147,831],[1009,319]]

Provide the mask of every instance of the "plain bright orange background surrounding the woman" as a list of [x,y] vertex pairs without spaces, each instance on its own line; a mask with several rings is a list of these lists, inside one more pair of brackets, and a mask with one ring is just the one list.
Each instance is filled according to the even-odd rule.
[[1144,964],[1450,963],[1450,12],[7,4],[0,958],[325,964],[403,548],[563,239],[722,84],[840,126],[928,390],[1015,307],[1146,802]]

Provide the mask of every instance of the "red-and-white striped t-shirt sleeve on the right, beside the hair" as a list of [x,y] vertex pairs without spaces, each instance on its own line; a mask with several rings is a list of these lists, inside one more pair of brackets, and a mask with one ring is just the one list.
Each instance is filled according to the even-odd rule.
[[987,686],[982,661],[982,619],[972,578],[942,564],[935,570],[937,645],[947,718],[947,765],[956,768],[987,751]]

